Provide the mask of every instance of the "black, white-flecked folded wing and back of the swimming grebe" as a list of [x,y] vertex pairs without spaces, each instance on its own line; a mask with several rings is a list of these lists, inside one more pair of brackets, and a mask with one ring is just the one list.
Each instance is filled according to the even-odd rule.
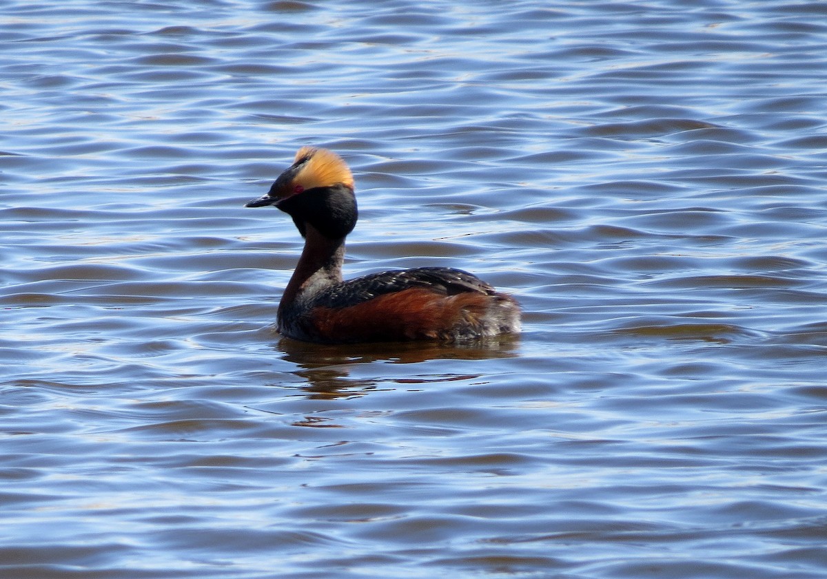
[[414,268],[371,273],[362,278],[328,287],[314,306],[341,308],[355,306],[386,293],[401,292],[411,287],[428,287],[438,294],[453,296],[463,292],[490,295],[494,288],[471,273],[454,268]]

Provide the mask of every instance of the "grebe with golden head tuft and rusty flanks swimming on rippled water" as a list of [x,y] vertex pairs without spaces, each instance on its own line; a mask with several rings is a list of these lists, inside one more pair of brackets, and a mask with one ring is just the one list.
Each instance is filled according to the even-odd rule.
[[305,342],[439,340],[518,334],[518,302],[461,269],[423,267],[344,281],[345,238],[356,226],[353,175],[329,149],[304,146],[270,190],[246,207],[293,218],[304,249],[281,297],[276,327]]

